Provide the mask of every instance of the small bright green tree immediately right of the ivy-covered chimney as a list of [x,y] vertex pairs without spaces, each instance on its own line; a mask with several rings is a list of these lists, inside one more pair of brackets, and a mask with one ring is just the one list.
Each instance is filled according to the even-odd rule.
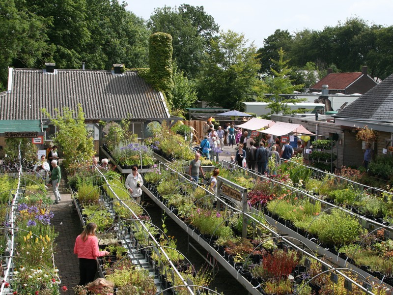
[[[197,101],[197,92],[193,82],[188,80],[184,72],[177,65],[173,66],[173,90],[172,104],[173,112],[190,108]],[[172,112],[172,113],[173,113]]]

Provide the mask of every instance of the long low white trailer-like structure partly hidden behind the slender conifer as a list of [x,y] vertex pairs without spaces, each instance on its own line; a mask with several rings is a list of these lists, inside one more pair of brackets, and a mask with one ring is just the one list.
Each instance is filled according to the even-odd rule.
[[[267,108],[269,102],[243,102],[246,106],[246,113],[254,113],[257,116],[268,115],[272,112],[272,109]],[[291,103],[287,102],[286,105],[292,110],[307,110],[306,114],[315,114],[318,110],[324,110],[325,105],[323,103],[308,103],[299,102]]]

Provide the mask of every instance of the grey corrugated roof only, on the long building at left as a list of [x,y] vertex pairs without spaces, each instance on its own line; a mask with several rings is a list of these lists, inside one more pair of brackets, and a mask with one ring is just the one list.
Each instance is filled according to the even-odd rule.
[[[0,93],[0,119],[46,118],[46,108],[56,118],[64,107],[81,103],[85,118],[168,118],[164,98],[136,71],[113,74],[106,70],[10,69],[11,91]],[[60,113],[55,113],[58,108]]]

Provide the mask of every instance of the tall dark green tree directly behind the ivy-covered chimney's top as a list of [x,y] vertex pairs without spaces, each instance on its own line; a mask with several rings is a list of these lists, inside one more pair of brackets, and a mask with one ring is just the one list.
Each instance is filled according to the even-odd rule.
[[195,77],[211,39],[219,26],[203,6],[182,4],[178,8],[164,6],[154,10],[148,21],[152,32],[165,32],[172,36],[173,60],[187,77]]

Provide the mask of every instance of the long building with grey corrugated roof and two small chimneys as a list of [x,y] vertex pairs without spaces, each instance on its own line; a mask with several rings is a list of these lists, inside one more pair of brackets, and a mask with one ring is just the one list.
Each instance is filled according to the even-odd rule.
[[56,130],[42,113],[43,108],[56,118],[63,116],[65,107],[76,111],[81,104],[97,142],[100,120],[131,118],[131,131],[143,138],[149,122],[177,119],[170,117],[160,91],[137,71],[124,71],[122,67],[113,65],[110,71],[67,70],[46,63],[45,69],[9,68],[8,88],[0,92],[0,145],[4,137],[42,136],[49,140]]

